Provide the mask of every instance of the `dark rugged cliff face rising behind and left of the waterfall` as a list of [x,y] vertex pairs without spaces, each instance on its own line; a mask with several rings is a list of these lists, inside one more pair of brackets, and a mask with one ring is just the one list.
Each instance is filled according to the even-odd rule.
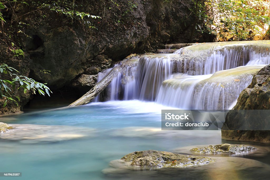
[[[28,24],[23,27],[27,36],[18,36],[25,58],[12,62],[2,58],[0,62],[16,67],[22,61],[18,70],[24,69],[23,74],[48,83],[52,90],[63,86],[89,90],[96,81],[93,75],[113,61],[134,52],[153,52],[167,42],[188,42],[194,20],[189,9],[193,6],[191,0],[88,0],[78,11],[102,17],[90,19],[95,28],[89,28],[49,8],[18,5],[15,12],[19,21]],[[8,25],[9,19],[6,21]],[[207,42],[202,36],[197,40]],[[92,83],[85,85],[85,78]]]

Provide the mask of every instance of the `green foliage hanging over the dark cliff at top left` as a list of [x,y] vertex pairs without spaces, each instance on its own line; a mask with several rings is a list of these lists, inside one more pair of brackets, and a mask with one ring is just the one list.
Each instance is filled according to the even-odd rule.
[[[26,6],[29,9],[28,12],[23,14],[21,11],[22,6]],[[89,28],[95,28],[92,23],[91,19],[101,18],[100,16],[94,16],[86,12],[81,12],[77,9],[82,7],[82,3],[75,2],[75,0],[43,0],[43,1],[18,1],[18,0],[3,0],[0,2],[0,21],[1,21],[1,29],[2,29],[2,36],[4,36],[4,25],[6,20],[10,19],[9,28],[7,28],[12,34],[17,32],[17,34],[22,33],[25,36],[28,36],[24,33],[24,26],[29,26],[29,24],[22,22],[22,17],[29,13],[34,13],[36,11],[49,9],[50,11],[56,12],[58,14],[63,14],[67,18],[71,19],[71,23],[76,19],[77,21],[82,22]],[[5,13],[4,13],[5,12]],[[3,13],[5,15],[3,15]],[[10,15],[11,14],[11,15]],[[46,14],[41,15],[42,18],[46,18]],[[13,22],[15,26],[12,25]],[[14,24],[14,23],[13,23]],[[16,29],[16,30],[15,30]],[[9,35],[10,36],[10,35]],[[18,53],[15,53],[18,54]]]

